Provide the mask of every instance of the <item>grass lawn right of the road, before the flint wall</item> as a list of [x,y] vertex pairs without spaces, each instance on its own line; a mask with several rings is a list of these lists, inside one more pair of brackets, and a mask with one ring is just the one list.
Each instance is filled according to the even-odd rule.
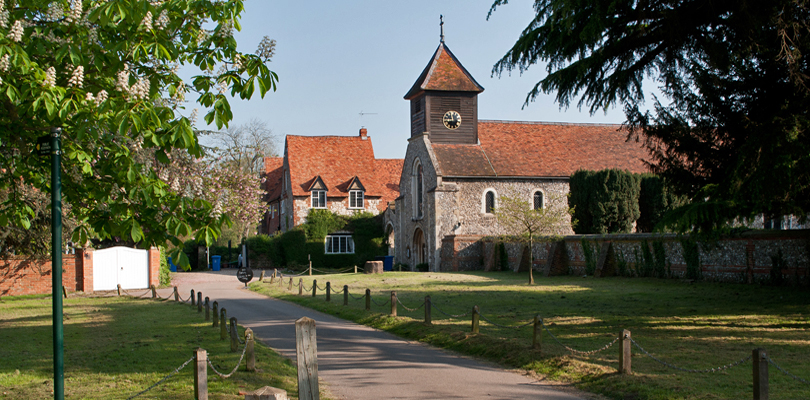
[[[562,344],[595,350],[617,338],[622,329],[655,357],[681,368],[720,367],[751,355],[762,347],[785,370],[810,380],[810,293],[787,287],[688,283],[679,280],[536,276],[529,286],[526,274],[511,272],[343,274],[305,276],[304,287],[331,282],[348,285],[349,306],[343,294],[331,302],[318,291],[298,296],[285,284],[255,282],[253,290],[294,301],[339,317],[458,351],[506,367],[519,367],[571,382],[614,399],[750,399],[752,363],[713,373],[688,373],[667,368],[633,347],[631,376],[616,373],[619,345],[589,356],[573,355],[548,333],[542,351],[532,350],[532,327],[502,328],[484,319],[480,333],[470,333],[471,317],[450,318],[432,311],[433,325],[424,324],[424,309],[398,307],[391,317],[383,304],[395,290],[409,308],[419,307],[430,295],[447,314],[463,314],[480,307],[483,317],[504,326],[517,326],[540,315]],[[278,282],[278,281],[276,281]],[[371,289],[372,311],[355,299]],[[375,304],[377,303],[377,304]],[[771,399],[809,399],[810,385],[770,367]]]

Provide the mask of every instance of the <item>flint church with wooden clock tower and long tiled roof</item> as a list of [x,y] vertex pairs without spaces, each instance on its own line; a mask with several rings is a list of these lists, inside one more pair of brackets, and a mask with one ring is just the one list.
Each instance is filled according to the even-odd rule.
[[578,169],[647,171],[646,149],[627,141],[620,125],[479,121],[477,96],[483,90],[442,41],[405,95],[411,138],[401,194],[385,214],[396,262],[452,269],[443,247],[453,250],[457,239],[503,233],[492,213],[501,195],[554,207],[560,205],[548,199],[565,201]]

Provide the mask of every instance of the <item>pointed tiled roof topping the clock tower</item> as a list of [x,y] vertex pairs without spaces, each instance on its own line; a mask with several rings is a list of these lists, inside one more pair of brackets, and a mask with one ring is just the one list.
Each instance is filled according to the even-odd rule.
[[405,100],[411,100],[426,90],[480,93],[484,88],[442,41],[419,79],[405,95]]

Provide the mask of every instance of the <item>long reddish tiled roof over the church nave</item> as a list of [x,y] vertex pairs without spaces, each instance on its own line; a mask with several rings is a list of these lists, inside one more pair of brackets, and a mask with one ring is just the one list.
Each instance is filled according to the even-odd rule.
[[433,144],[445,176],[571,176],[578,169],[648,172],[649,153],[621,125],[479,121],[479,145]]

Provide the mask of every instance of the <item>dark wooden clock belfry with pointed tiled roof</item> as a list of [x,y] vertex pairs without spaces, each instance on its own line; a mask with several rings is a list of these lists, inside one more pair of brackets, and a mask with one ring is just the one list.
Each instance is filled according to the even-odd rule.
[[411,137],[427,133],[432,143],[478,143],[478,93],[484,88],[444,44],[405,95],[411,102]]

